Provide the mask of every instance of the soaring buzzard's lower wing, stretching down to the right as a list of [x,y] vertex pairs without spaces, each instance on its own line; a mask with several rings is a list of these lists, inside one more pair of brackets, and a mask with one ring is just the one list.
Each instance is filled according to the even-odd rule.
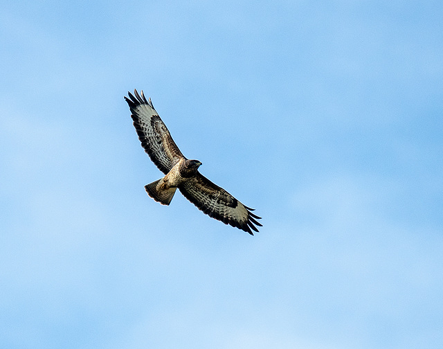
[[256,226],[262,226],[257,220],[261,217],[254,215],[253,208],[244,206],[226,190],[197,172],[195,177],[179,186],[181,193],[200,211],[224,224],[236,226],[251,235],[258,231]]

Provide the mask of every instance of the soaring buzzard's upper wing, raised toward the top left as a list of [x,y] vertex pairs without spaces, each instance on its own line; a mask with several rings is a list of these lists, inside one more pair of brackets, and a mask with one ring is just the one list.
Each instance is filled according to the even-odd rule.
[[154,109],[151,98],[146,100],[143,91],[140,96],[137,90],[134,90],[134,95],[128,92],[129,98],[125,97],[125,100],[131,109],[131,117],[134,120],[141,146],[159,170],[168,174],[171,168],[183,158],[183,154]]

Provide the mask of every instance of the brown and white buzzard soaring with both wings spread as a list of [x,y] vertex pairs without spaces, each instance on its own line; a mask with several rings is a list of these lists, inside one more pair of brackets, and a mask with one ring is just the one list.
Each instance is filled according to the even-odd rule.
[[244,206],[226,190],[202,176],[198,170],[201,162],[188,160],[181,154],[154,109],[151,98],[146,100],[143,91],[139,95],[134,90],[134,95],[128,92],[129,97],[125,96],[125,100],[131,110],[138,139],[151,160],[165,174],[165,177],[145,186],[147,194],[156,202],[169,205],[179,188],[184,197],[206,215],[251,235],[252,231],[258,231],[256,226],[262,224],[257,220],[261,217],[251,212],[253,208]]

